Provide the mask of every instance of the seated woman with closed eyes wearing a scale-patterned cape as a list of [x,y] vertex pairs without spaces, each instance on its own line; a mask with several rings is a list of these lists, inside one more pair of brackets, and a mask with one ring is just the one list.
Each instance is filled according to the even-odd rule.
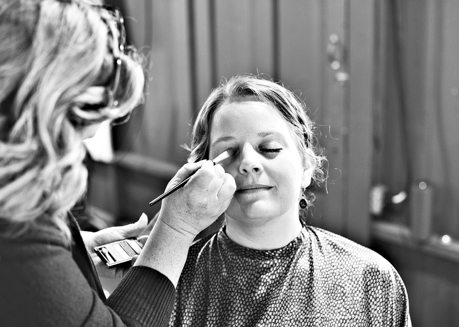
[[314,125],[292,92],[237,76],[194,124],[190,161],[224,151],[236,193],[224,226],[190,248],[172,326],[407,326],[408,298],[384,258],[300,218],[322,181]]

